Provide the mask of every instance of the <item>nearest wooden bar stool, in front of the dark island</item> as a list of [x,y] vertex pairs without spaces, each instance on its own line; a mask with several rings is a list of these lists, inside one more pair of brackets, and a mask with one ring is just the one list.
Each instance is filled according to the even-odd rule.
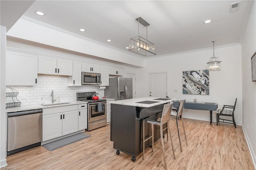
[[[160,136],[161,136],[161,144],[162,144],[162,150],[163,150],[163,157],[164,157],[164,168],[167,169],[166,166],[166,158],[165,158],[165,153],[164,153],[164,138],[163,138],[163,131],[167,130],[167,140],[168,140],[168,132],[170,134],[170,139],[171,139],[171,144],[172,144],[172,153],[174,156],[174,159],[176,159],[175,157],[175,153],[174,153],[174,148],[173,148],[173,143],[172,143],[172,136],[170,133],[170,125],[169,125],[169,119],[170,119],[170,115],[171,115],[171,110],[172,110],[172,104],[165,104],[163,111],[162,111],[162,116],[161,118],[159,117],[147,117],[145,119],[143,119],[143,155],[142,155],[142,159],[144,160],[144,154],[145,154],[145,142],[147,140],[149,140],[150,138],[152,139],[152,152],[154,152],[154,125],[158,125],[160,126]],[[150,123],[151,124],[151,132],[152,135],[149,136],[147,139],[145,139],[145,123]],[[167,127],[163,129],[163,125],[167,123]]]

